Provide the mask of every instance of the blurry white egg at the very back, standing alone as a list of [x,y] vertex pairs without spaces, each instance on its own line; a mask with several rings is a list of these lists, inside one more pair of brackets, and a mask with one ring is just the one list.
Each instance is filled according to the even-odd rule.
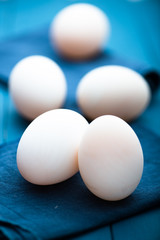
[[71,59],[85,59],[104,48],[110,35],[108,17],[98,7],[77,3],[62,9],[53,19],[50,39],[55,49]]

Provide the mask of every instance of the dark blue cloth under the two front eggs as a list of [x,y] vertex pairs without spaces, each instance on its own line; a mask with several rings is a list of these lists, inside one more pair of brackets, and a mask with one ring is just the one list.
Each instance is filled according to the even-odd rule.
[[119,202],[95,197],[79,174],[53,186],[25,181],[16,166],[17,142],[0,147],[0,232],[10,239],[62,239],[159,206],[160,137],[134,124],[144,150],[135,192]]

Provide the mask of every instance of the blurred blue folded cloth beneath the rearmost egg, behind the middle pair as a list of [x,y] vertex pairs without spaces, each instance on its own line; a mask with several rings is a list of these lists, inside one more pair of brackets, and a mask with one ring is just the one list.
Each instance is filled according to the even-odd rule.
[[[100,54],[95,59],[83,62],[69,62],[59,57],[53,51],[49,37],[48,27],[27,34],[23,37],[1,43],[0,45],[0,82],[7,84],[9,74],[14,65],[22,58],[30,55],[44,55],[55,60],[65,73],[70,86],[79,82],[81,77],[95,67],[104,65],[122,65],[141,73],[149,82],[152,91],[155,91],[159,84],[159,75],[145,64],[135,63],[131,60],[124,59],[111,52]],[[70,91],[69,91],[70,92]]]

